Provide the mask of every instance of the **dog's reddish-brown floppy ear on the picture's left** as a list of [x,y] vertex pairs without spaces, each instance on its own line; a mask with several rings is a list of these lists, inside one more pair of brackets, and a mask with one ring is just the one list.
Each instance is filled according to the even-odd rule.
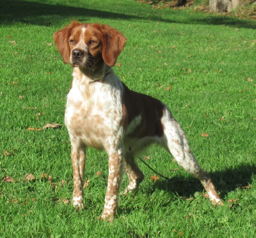
[[64,63],[68,63],[70,58],[68,38],[70,37],[72,28],[77,25],[79,25],[79,22],[71,22],[69,25],[65,26],[65,28],[60,29],[60,31],[56,31],[53,35],[54,43],[58,51],[60,51]]

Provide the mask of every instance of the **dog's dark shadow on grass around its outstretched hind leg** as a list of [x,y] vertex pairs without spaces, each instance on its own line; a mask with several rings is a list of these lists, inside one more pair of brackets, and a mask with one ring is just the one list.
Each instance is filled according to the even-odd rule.
[[[237,168],[228,168],[224,171],[209,173],[209,175],[217,191],[220,192],[221,198],[224,198],[228,192],[252,184],[252,175],[255,173],[255,165],[241,164]],[[160,179],[152,187],[153,190],[156,188],[188,197],[193,196],[198,191],[204,191],[200,181],[192,176],[189,178],[172,177],[170,180]]]

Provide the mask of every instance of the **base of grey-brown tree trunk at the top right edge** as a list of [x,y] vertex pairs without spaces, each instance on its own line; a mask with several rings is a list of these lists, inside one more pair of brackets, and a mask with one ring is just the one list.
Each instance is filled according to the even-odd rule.
[[240,0],[209,0],[211,12],[229,12],[239,6]]

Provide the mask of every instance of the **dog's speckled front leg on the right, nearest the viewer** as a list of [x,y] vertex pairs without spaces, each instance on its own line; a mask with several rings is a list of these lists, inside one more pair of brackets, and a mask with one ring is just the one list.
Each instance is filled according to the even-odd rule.
[[[107,151],[108,152],[108,151]],[[121,179],[122,171],[122,148],[111,149],[111,152],[108,152],[109,155],[109,174],[108,174],[108,188],[105,197],[104,210],[101,216],[101,219],[108,219],[112,222],[115,216],[115,210],[118,203],[118,189]]]

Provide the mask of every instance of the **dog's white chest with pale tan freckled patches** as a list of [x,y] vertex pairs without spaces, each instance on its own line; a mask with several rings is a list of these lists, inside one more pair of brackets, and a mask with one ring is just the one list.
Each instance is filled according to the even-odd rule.
[[74,73],[65,111],[70,139],[103,149],[120,129],[122,93],[122,83],[113,72],[99,81]]

